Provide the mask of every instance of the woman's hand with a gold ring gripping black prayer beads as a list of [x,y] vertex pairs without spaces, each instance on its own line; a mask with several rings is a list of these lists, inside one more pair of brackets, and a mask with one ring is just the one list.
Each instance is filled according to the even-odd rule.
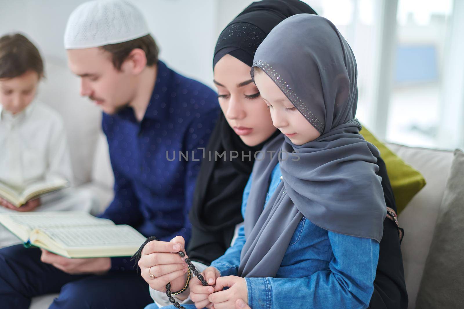
[[[139,267],[142,278],[153,290],[166,292],[166,284],[171,283],[171,292],[182,290],[187,281],[188,265],[177,252],[185,252],[185,240],[182,236],[171,241],[150,241],[142,250]],[[150,274],[155,276],[151,278]],[[185,294],[185,293],[183,293]],[[186,295],[187,296],[187,295]]]

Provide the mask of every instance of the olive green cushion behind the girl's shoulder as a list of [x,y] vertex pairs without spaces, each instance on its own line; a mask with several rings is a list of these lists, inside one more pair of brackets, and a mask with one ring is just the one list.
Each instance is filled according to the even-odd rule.
[[425,179],[418,170],[411,165],[406,164],[403,160],[395,155],[387,146],[381,143],[365,127],[361,132],[364,139],[374,144],[380,150],[380,156],[387,166],[388,178],[392,184],[393,195],[395,196],[397,214],[406,208],[406,205],[412,200],[420,189],[425,186]]

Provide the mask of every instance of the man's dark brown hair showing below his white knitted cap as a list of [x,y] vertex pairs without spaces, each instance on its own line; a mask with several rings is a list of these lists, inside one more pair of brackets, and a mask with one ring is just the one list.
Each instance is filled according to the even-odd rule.
[[145,51],[148,67],[158,62],[158,46],[153,37],[149,34],[142,38],[136,38],[127,42],[104,45],[101,48],[111,53],[111,60],[117,70],[121,70],[122,63],[135,48],[140,48]]

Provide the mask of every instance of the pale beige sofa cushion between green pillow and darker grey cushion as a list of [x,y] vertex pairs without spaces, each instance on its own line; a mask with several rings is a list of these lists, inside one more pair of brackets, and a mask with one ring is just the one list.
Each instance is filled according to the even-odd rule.
[[387,144],[387,147],[407,164],[419,170],[427,182],[424,189],[412,198],[398,217],[400,226],[405,230],[401,252],[409,308],[415,308],[422,271],[432,243],[438,209],[443,199],[446,180],[450,174],[453,152],[396,144]]

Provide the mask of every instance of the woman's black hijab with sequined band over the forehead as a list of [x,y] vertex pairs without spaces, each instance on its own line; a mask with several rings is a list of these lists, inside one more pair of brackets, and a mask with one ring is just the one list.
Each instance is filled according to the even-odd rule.
[[[238,14],[221,32],[214,50],[213,67],[226,54],[250,66],[259,44],[272,28],[284,19],[314,10],[298,0],[263,0],[253,2]],[[276,130],[268,140],[280,132]],[[235,226],[243,221],[241,214],[242,194],[254,162],[254,153],[262,144],[250,147],[243,143],[228,125],[224,114],[206,147],[193,197],[189,219],[192,223],[192,237],[187,247],[190,259],[210,264],[224,254],[230,246]],[[226,161],[213,159],[214,153],[226,151]],[[229,158],[230,151],[238,151],[238,158]],[[251,153],[251,160],[241,158],[241,153]],[[209,160],[208,153],[212,154]],[[232,159],[232,161],[231,161]]]

